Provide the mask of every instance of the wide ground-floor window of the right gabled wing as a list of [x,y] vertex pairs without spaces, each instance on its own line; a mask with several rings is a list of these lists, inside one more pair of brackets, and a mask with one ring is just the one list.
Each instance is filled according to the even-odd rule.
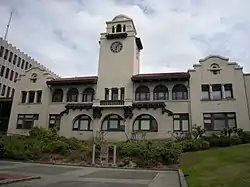
[[204,113],[203,123],[207,131],[221,131],[227,127],[237,127],[235,112]]

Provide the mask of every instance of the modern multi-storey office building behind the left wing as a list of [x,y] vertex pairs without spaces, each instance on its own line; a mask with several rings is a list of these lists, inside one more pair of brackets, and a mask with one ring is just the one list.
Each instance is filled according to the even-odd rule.
[[50,72],[20,49],[0,38],[0,131],[7,130],[16,80],[31,67],[40,67]]

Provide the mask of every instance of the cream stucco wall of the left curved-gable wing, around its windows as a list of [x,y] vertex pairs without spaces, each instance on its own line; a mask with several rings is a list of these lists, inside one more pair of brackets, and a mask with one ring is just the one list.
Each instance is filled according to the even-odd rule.
[[[31,75],[36,73],[38,79],[35,83],[31,83]],[[27,134],[28,130],[16,129],[18,114],[39,114],[39,119],[35,120],[34,126],[46,127],[48,122],[48,103],[50,88],[46,81],[53,79],[53,77],[46,71],[33,67],[26,71],[24,76],[18,80],[17,89],[13,98],[13,104],[10,114],[10,121],[8,126],[8,134]],[[21,103],[22,91],[38,91],[42,90],[41,103]]]

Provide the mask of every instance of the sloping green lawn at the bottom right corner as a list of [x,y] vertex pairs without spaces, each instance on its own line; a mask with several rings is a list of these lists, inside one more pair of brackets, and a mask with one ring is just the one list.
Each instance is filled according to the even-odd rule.
[[250,144],[185,153],[189,187],[250,187]]

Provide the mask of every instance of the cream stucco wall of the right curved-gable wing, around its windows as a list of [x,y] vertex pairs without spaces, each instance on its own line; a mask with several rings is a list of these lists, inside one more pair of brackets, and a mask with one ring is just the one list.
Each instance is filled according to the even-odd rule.
[[[212,63],[217,63],[221,67],[220,74],[213,75],[208,71]],[[203,126],[203,113],[205,112],[236,112],[237,126],[250,130],[242,68],[226,59],[211,57],[194,65],[194,69],[189,73],[192,124]],[[235,99],[201,101],[201,84],[232,84]]]

